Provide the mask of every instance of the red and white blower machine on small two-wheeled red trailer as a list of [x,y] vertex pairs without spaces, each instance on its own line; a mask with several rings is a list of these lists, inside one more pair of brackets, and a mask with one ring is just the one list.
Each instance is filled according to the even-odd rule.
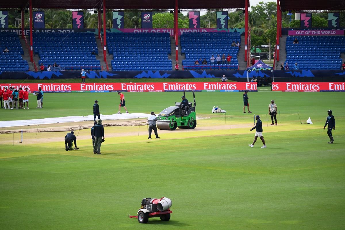
[[139,223],[147,223],[149,218],[159,217],[162,221],[170,220],[170,207],[172,202],[169,198],[162,197],[156,198],[144,198],[141,201],[141,208],[138,211],[138,216],[129,216],[129,218],[137,218]]

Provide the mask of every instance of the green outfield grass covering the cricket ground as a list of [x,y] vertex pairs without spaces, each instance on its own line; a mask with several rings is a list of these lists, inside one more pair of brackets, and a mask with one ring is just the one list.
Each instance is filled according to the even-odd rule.
[[[126,106],[130,113],[157,113],[181,95],[125,93]],[[91,139],[78,139],[80,149],[68,152],[62,141],[49,139],[62,140],[65,132],[38,133],[41,142],[34,143],[25,140],[36,133],[24,134],[24,142],[13,145],[20,134],[0,135],[1,228],[343,229],[345,94],[262,91],[248,97],[253,114],[242,113],[242,93],[196,92],[197,115],[212,118],[189,132],[161,133],[159,140],[148,140],[145,126],[106,127],[102,155],[92,154]],[[36,104],[32,94],[29,99]],[[43,109],[1,110],[1,120],[85,116],[95,99],[101,113],[117,112],[116,93],[46,93]],[[272,99],[281,122],[267,127]],[[226,119],[210,114],[213,106],[225,109]],[[322,129],[329,109],[334,144]],[[300,124],[297,112],[314,124]],[[262,117],[266,149],[260,140],[248,147],[254,114]],[[229,122],[243,127],[229,129]],[[124,135],[110,137],[116,133]],[[172,200],[170,221],[128,218],[142,198],[162,196]]]

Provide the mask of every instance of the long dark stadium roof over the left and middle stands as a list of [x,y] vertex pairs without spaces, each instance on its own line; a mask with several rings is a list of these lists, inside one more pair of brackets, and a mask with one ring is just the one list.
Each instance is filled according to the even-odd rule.
[[[246,0],[211,1],[179,0],[179,9],[240,9],[245,8]],[[249,7],[249,0],[248,7]],[[32,0],[35,9],[98,9],[102,0]],[[28,8],[29,0],[1,1],[2,9]],[[107,9],[173,9],[175,0],[106,0]]]

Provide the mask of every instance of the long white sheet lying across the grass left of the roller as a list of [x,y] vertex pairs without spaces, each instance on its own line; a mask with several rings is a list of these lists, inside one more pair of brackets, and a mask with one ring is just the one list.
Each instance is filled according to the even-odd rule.
[[[118,120],[118,119],[133,119],[133,118],[147,118],[150,114],[146,113],[121,113],[103,115],[100,114],[102,120]],[[98,117],[96,117],[96,120]],[[52,124],[52,123],[66,123],[78,121],[93,121],[93,115],[89,116],[68,116],[68,117],[55,117],[31,120],[17,120],[17,121],[0,121],[0,128],[13,127],[13,126],[28,126],[37,124]]]

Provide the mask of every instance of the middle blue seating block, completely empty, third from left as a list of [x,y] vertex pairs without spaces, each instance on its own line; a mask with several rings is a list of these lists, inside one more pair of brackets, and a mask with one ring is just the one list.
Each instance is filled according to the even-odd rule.
[[107,33],[112,70],[171,70],[169,33]]

